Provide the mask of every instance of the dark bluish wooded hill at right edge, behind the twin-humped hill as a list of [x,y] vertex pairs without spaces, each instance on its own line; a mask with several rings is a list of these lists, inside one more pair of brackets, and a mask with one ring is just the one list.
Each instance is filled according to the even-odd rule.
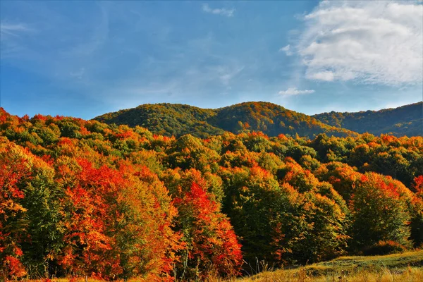
[[357,113],[330,113],[313,116],[323,123],[347,128],[357,133],[396,136],[423,136],[423,102],[380,111],[359,111]]

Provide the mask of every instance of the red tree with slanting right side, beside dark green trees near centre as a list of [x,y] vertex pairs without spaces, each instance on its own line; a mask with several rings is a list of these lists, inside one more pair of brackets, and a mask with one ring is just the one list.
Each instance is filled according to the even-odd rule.
[[[210,200],[207,191],[197,183],[173,201],[183,221],[183,233],[190,233],[188,258],[191,264],[202,264],[202,271],[214,267],[221,275],[238,274],[242,264],[240,244],[231,223],[219,212],[219,205]],[[189,262],[188,262],[189,264]],[[200,276],[204,278],[204,272]]]

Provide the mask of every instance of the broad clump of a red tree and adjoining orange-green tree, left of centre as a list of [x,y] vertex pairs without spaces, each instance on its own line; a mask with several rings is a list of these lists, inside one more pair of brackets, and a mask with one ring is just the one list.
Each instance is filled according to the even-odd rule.
[[[119,276],[128,267],[150,278],[170,274],[179,236],[171,231],[175,212],[166,206],[170,199],[166,200],[166,188],[156,185],[157,176],[125,164],[118,170],[95,168],[78,159],[78,165],[79,171],[59,168],[59,182],[75,179],[63,201],[67,247],[59,264],[102,279]],[[124,261],[121,254],[126,254]]]

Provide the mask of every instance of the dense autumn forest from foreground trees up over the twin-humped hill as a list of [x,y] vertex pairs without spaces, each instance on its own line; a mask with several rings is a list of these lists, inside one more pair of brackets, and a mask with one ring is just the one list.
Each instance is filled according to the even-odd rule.
[[[422,246],[423,137],[333,131],[261,106],[103,116],[135,113],[154,132],[179,126],[178,137],[0,108],[0,277],[203,281],[257,260],[281,267]],[[172,114],[161,120],[157,109]],[[240,133],[212,127],[218,120]],[[214,136],[183,135],[200,125]],[[299,137],[294,125],[321,134]]]

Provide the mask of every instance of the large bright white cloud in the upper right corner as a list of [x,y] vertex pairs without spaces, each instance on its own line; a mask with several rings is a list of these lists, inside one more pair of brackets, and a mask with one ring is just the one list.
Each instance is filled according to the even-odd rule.
[[422,83],[422,4],[323,1],[304,19],[306,29],[294,49],[306,66],[306,78]]

